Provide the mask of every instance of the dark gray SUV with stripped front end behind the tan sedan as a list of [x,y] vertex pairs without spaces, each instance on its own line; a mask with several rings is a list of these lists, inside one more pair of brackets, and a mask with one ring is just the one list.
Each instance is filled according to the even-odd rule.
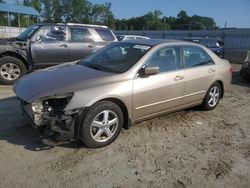
[[13,84],[35,68],[82,59],[113,41],[106,26],[32,25],[16,38],[0,40],[0,83]]

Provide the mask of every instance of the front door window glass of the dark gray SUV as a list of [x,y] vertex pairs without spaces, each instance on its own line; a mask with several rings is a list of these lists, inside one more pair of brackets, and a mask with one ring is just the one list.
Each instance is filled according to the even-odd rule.
[[42,41],[64,41],[66,39],[66,27],[43,26],[35,34],[34,39]]

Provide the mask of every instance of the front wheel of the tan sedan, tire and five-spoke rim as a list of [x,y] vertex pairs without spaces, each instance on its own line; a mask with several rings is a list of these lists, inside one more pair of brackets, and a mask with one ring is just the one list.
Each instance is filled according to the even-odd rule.
[[89,148],[111,144],[120,134],[124,120],[120,107],[111,101],[95,103],[81,118],[80,139]]

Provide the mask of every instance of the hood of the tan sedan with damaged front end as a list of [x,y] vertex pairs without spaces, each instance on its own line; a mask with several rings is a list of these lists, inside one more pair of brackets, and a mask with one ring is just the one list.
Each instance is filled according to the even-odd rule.
[[111,82],[111,77],[114,80],[115,75],[75,63],[66,63],[22,77],[13,90],[20,99],[32,102],[43,97],[103,85]]

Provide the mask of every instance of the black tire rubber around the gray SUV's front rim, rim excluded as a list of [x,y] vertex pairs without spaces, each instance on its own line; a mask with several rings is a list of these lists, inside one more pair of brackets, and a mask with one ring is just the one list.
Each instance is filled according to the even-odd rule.
[[23,64],[23,62],[20,60],[20,59],[17,59],[15,57],[10,57],[10,56],[4,56],[2,58],[0,58],[0,68],[6,64],[6,63],[13,63],[15,64],[16,66],[19,67],[20,69],[20,76],[15,79],[15,80],[6,80],[5,78],[3,78],[1,75],[0,75],[0,84],[4,84],[4,85],[10,85],[10,84],[13,84],[15,83],[19,78],[21,78],[23,75],[25,75],[27,73],[27,69],[25,67],[25,65]]

